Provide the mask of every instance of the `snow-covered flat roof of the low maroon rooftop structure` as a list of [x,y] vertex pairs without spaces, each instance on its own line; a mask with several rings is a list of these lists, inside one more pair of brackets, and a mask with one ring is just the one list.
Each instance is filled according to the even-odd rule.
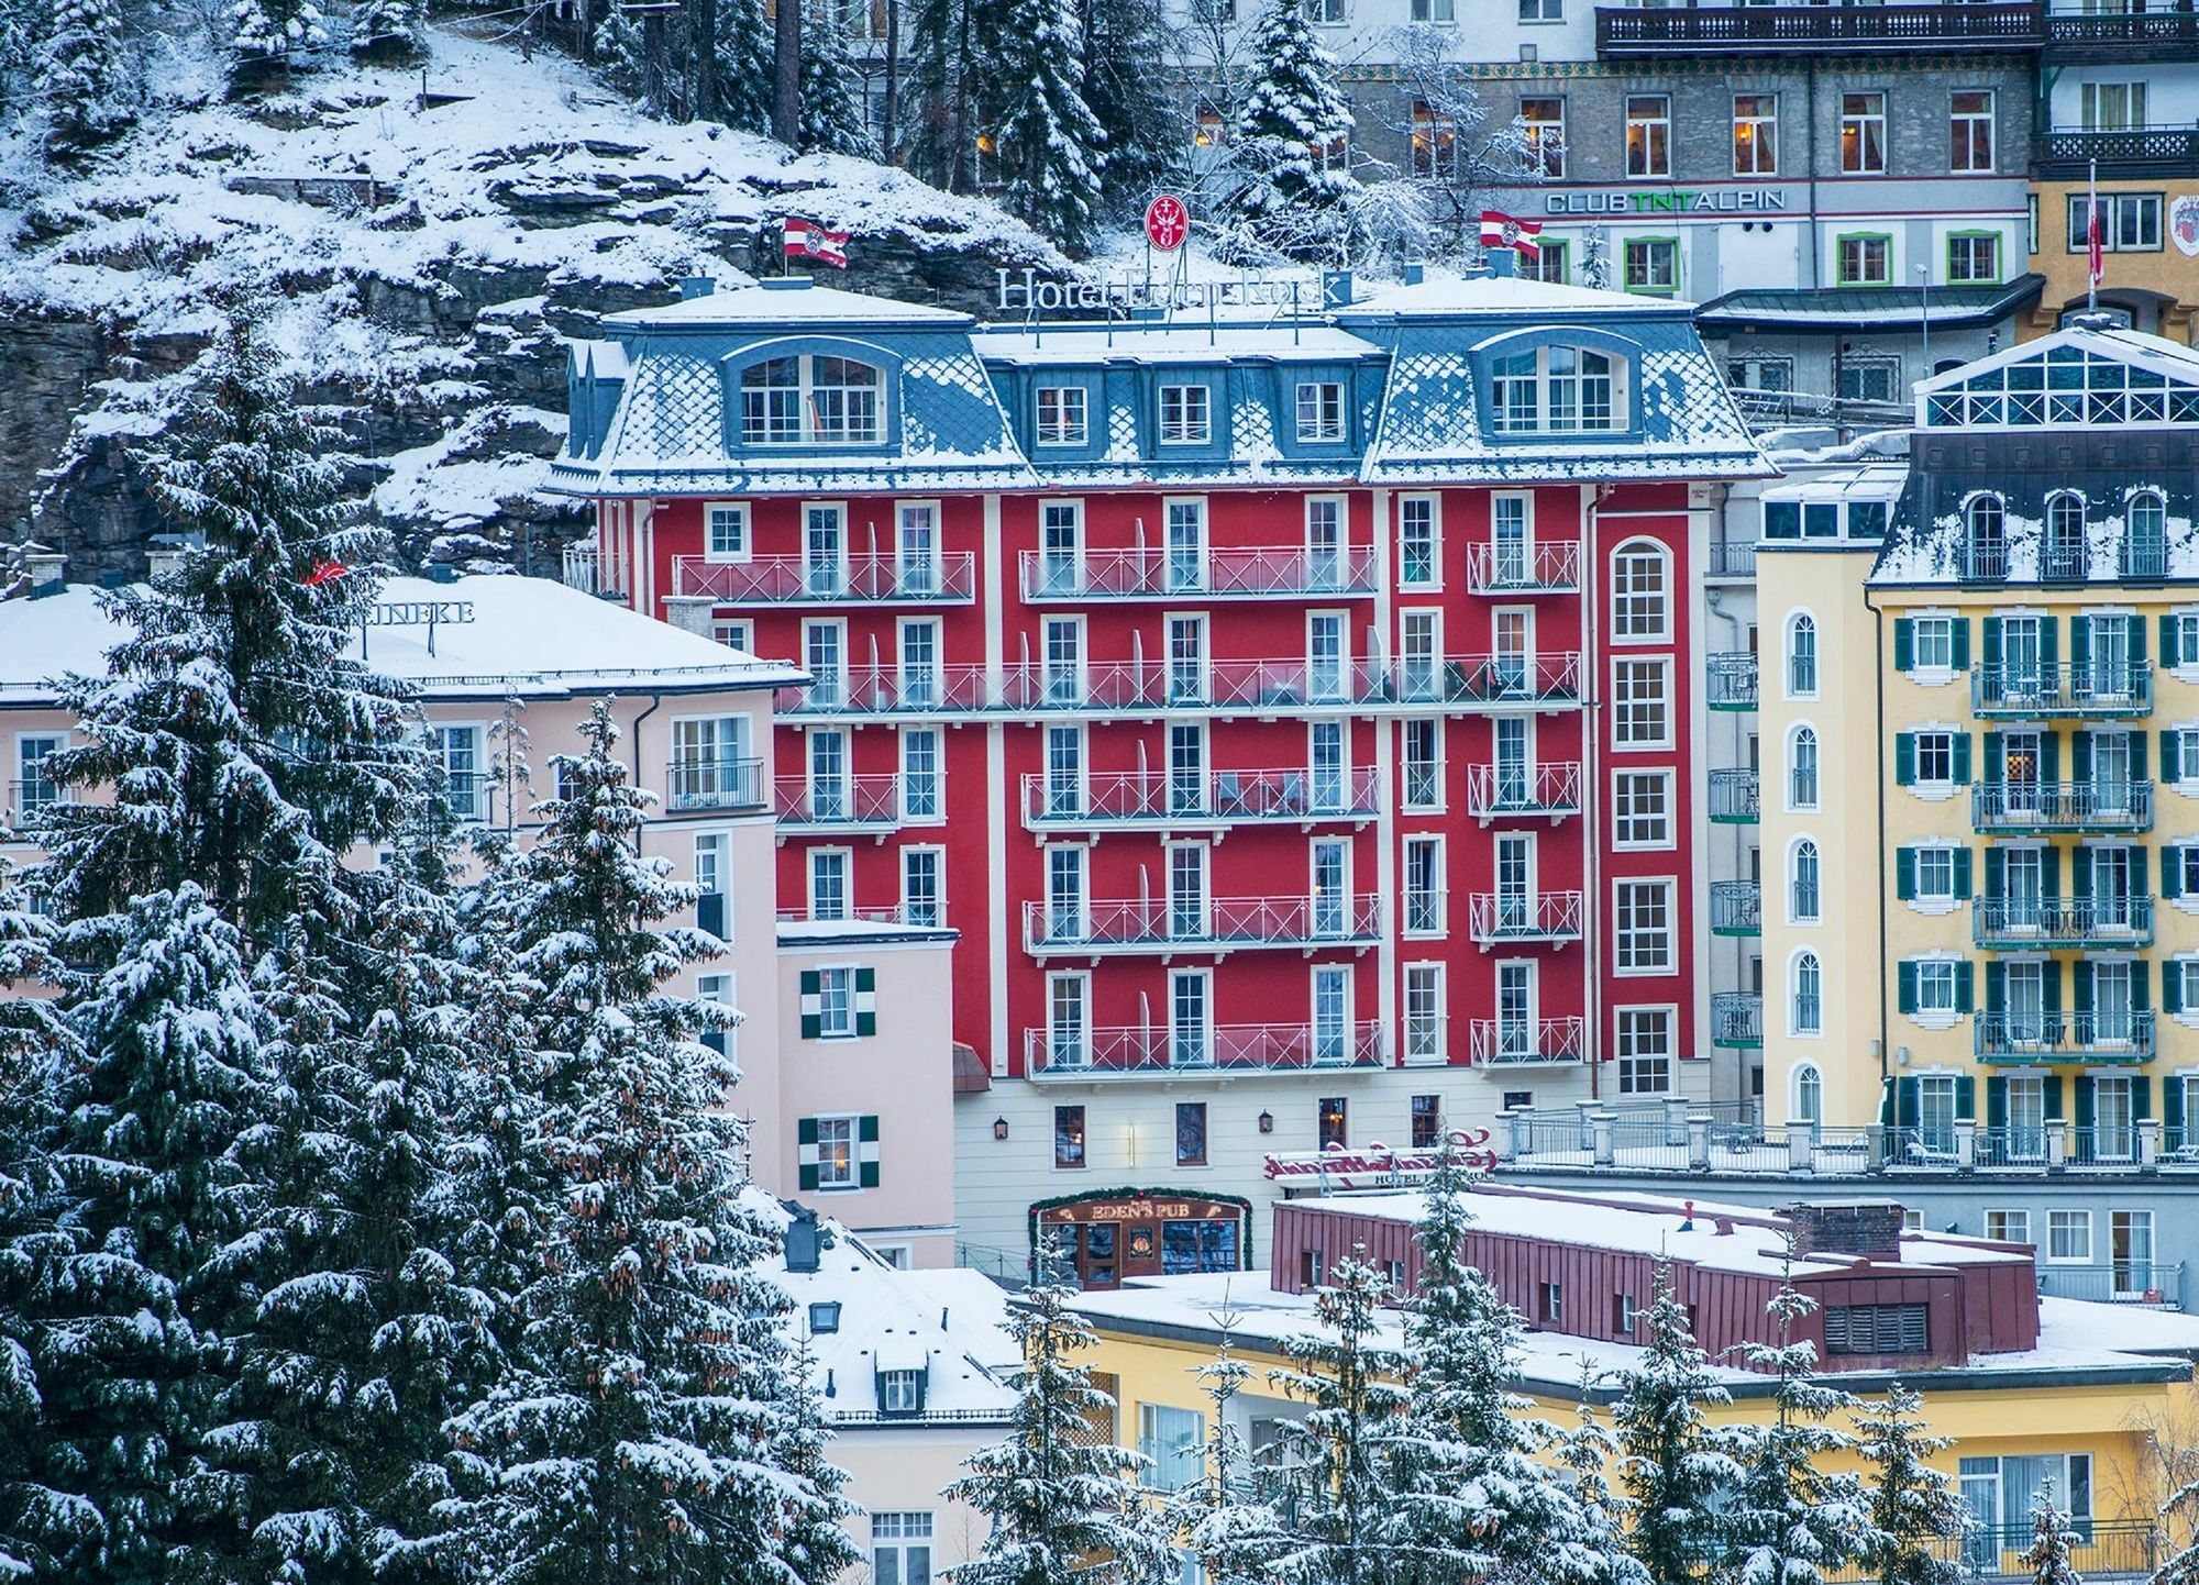
[[[1322,1200],[1293,1200],[1297,1209],[1335,1211],[1337,1216],[1379,1216],[1418,1224],[1427,1196],[1407,1189],[1399,1194],[1337,1194]],[[1693,1211],[1687,1207],[1693,1205]],[[1473,1227],[1482,1233],[1537,1238],[1552,1244],[1623,1251],[1687,1262],[1709,1271],[1737,1271],[1755,1277],[1777,1277],[1790,1268],[1786,1255],[1786,1218],[1761,1205],[1715,1205],[1709,1200],[1676,1200],[1658,1194],[1579,1191],[1476,1185],[1471,1191]],[[1689,1227],[1693,1222],[1693,1227]],[[2010,1253],[1986,1240],[1955,1233],[1904,1233],[1902,1266],[1970,1266],[2016,1264],[2030,1255]],[[1797,1277],[1830,1275],[1854,1266],[1852,1255],[1797,1257]]]

